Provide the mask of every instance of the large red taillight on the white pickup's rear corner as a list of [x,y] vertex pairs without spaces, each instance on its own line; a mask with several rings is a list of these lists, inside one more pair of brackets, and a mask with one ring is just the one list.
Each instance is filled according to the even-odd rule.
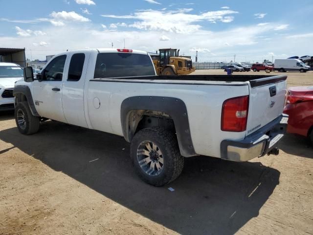
[[246,130],[249,95],[226,99],[222,107],[221,130],[242,132]]

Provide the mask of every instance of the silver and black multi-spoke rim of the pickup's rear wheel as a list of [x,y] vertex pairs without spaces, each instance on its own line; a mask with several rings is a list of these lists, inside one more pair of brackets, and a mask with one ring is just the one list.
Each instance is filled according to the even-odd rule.
[[142,141],[137,147],[138,164],[147,175],[157,176],[164,168],[164,159],[159,147],[152,141]]

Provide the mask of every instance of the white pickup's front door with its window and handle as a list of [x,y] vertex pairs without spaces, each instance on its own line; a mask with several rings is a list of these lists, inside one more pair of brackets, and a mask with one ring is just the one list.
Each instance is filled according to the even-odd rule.
[[33,99],[38,114],[52,120],[66,122],[62,109],[62,78],[67,55],[49,61],[41,72],[42,80],[35,80]]

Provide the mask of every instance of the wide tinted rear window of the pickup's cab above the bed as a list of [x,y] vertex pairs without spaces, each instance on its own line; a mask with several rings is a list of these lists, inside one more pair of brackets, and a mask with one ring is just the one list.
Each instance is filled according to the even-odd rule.
[[148,54],[99,53],[94,78],[156,75]]

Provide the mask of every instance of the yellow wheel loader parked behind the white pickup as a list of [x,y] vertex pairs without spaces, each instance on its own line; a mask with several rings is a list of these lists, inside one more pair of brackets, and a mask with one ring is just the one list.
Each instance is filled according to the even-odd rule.
[[158,55],[151,56],[157,75],[187,75],[195,71],[190,58],[179,56],[179,50],[159,49]]

